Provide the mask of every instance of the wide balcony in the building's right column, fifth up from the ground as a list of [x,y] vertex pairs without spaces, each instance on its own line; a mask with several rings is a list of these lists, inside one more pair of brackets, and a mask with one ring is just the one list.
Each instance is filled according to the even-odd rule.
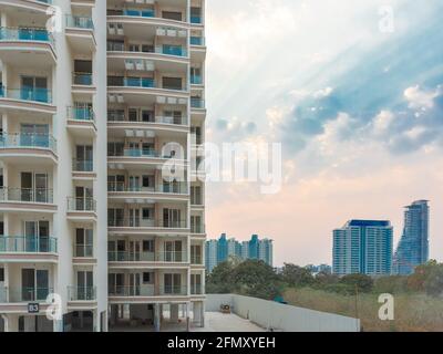
[[[107,156],[107,166],[111,169],[122,168],[146,168],[161,169],[166,164],[171,166],[184,167],[188,164],[185,158],[163,155],[154,149],[125,148],[122,155]],[[121,168],[122,167],[122,168]]]

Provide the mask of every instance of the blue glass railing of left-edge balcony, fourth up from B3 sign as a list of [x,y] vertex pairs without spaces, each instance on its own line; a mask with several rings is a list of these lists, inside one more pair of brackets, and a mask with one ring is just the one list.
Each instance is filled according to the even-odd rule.
[[0,148],[43,148],[56,154],[56,139],[50,134],[2,133]]

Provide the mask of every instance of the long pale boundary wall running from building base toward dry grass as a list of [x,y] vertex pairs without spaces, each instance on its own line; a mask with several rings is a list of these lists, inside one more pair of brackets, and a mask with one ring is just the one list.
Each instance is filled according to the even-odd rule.
[[240,317],[285,332],[358,332],[360,320],[234,294],[207,294],[206,311],[229,304]]

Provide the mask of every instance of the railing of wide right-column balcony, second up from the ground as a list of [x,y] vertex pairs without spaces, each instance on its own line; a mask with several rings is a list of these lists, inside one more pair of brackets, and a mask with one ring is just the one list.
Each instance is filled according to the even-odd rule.
[[109,251],[107,260],[110,262],[165,262],[165,263],[186,263],[187,252],[128,252],[128,251]]

